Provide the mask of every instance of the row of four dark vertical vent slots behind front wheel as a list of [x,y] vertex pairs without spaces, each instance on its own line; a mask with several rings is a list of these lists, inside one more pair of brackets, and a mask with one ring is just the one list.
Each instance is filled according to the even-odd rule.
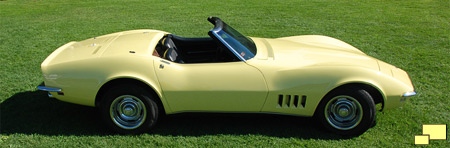
[[301,98],[299,95],[278,95],[278,107],[288,107],[288,108],[305,108],[306,96],[303,95]]

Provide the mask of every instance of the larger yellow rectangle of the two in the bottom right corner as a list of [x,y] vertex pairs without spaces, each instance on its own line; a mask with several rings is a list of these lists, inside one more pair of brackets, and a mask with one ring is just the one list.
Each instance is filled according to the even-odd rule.
[[430,135],[430,140],[446,140],[446,128],[446,124],[424,124],[422,134]]

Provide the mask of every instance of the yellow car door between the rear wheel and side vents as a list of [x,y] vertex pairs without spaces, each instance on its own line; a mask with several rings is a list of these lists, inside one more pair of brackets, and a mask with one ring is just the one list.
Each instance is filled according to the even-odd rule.
[[154,64],[173,112],[256,112],[267,97],[263,75],[245,62],[180,64],[156,58]]

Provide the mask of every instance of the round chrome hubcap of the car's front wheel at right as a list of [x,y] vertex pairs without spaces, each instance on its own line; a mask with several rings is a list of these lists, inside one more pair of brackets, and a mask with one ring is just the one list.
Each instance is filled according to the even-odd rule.
[[361,104],[350,96],[336,96],[325,106],[325,117],[336,129],[353,129],[361,122],[362,116]]

